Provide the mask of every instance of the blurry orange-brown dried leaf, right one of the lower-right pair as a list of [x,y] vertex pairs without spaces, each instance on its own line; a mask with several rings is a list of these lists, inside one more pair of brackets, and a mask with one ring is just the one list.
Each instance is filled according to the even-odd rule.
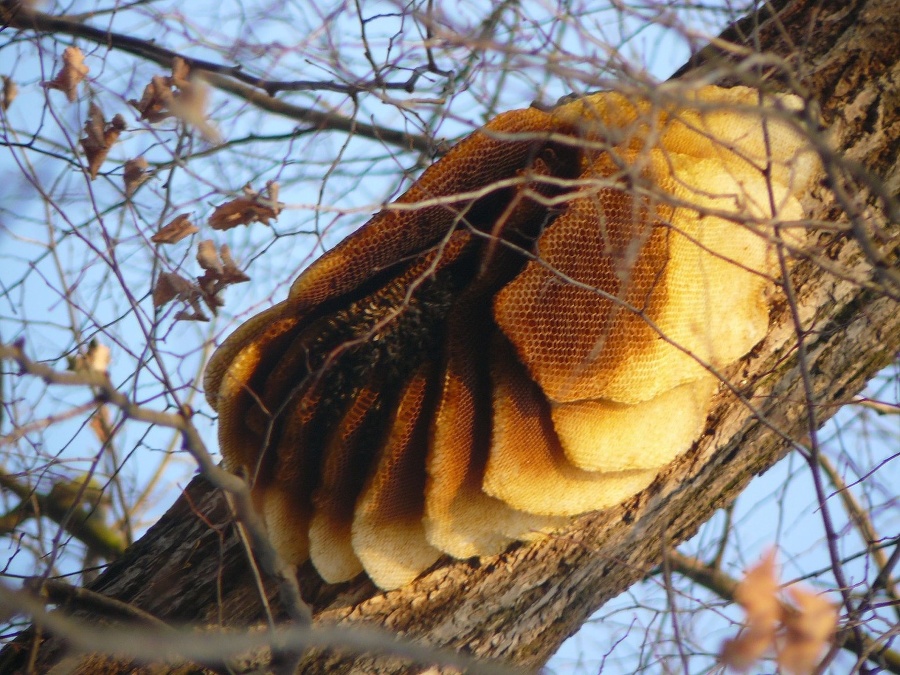
[[797,675],[815,670],[822,652],[837,630],[837,609],[821,595],[789,588],[796,611],[785,612],[786,635],[778,652],[778,665]]

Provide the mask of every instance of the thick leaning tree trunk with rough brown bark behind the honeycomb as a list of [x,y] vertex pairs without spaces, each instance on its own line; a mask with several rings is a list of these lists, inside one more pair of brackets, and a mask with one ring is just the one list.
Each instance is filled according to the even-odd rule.
[[[381,626],[434,647],[537,667],[592,612],[659,564],[668,547],[693,535],[752,477],[802,443],[810,410],[822,424],[890,362],[900,349],[894,271],[898,36],[895,0],[765,4],[721,36],[746,51],[714,43],[678,74],[704,71],[720,83],[734,82],[734,63],[764,52],[777,58],[760,67],[760,75],[821,106],[843,168],[824,177],[804,204],[812,222],[838,226],[814,235],[816,254],[791,272],[805,357],[790,304],[776,302],[767,339],[729,373],[736,391],[720,393],[705,436],[638,497],[496,558],[443,560],[390,593],[366,580],[325,586],[307,566],[300,571],[301,589],[317,625]],[[740,79],[746,82],[747,74]],[[231,523],[223,495],[198,477],[91,589],[170,624],[265,625],[246,550]],[[275,585],[264,583],[272,611],[283,616]],[[114,622],[108,610],[77,602],[71,610],[79,619]],[[33,657],[36,671],[44,672],[62,658],[64,644],[47,629],[32,630],[6,649],[0,670],[23,668]],[[256,658],[266,665],[265,654]],[[110,665],[108,672],[134,672],[132,666]],[[161,668],[154,672],[173,672]],[[311,649],[300,669],[394,673],[420,667],[409,659]]]

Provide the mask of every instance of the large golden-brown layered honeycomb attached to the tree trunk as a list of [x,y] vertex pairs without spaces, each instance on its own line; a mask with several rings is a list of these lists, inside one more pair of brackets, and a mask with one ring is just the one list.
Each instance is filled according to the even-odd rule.
[[281,555],[409,583],[647,487],[765,335],[802,102],[736,87],[498,116],[215,352],[225,466]]

